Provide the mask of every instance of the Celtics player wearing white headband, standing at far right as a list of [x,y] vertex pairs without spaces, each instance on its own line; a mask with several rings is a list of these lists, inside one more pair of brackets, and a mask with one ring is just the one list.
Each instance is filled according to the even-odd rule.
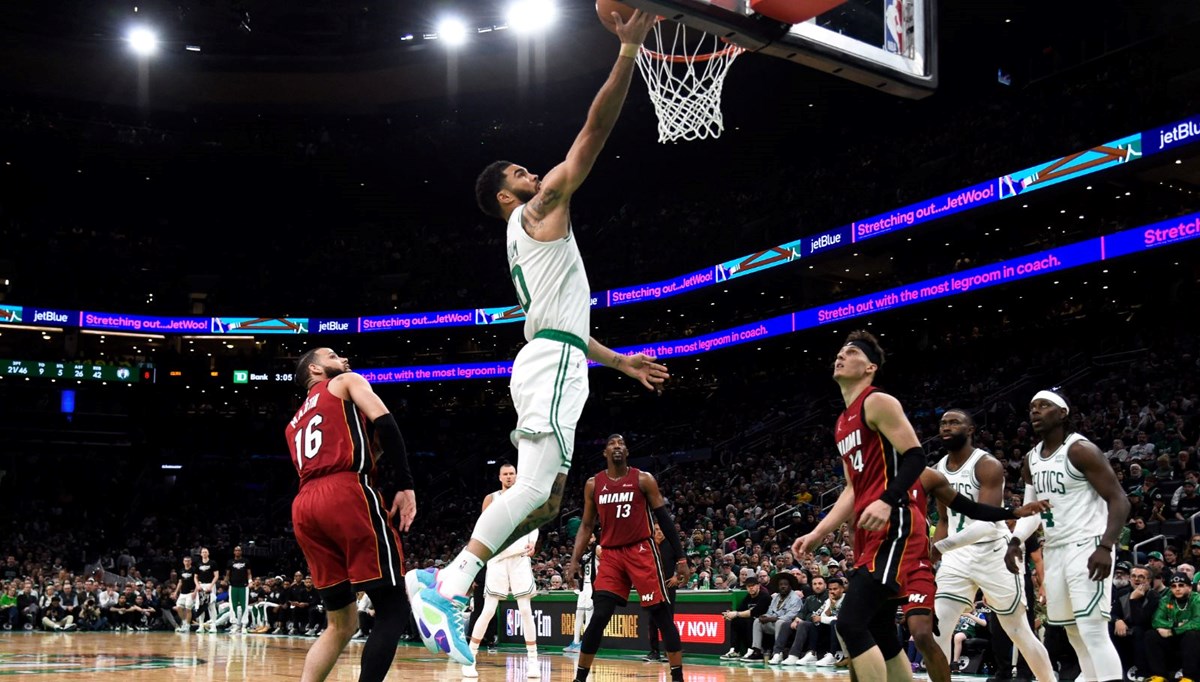
[[1025,456],[1025,499],[1054,509],[1022,519],[1009,542],[1008,569],[1018,573],[1021,545],[1045,526],[1046,623],[1062,626],[1079,654],[1084,680],[1118,681],[1121,658],[1109,636],[1114,545],[1129,516],[1129,499],[1104,454],[1075,432],[1060,394],[1040,390],[1030,401],[1030,424],[1042,442]]

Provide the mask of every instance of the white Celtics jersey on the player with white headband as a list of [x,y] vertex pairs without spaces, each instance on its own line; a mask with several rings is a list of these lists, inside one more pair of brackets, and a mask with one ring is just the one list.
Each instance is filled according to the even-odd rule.
[[1072,433],[1049,455],[1043,456],[1042,443],[1026,455],[1038,499],[1049,499],[1051,504],[1042,513],[1048,548],[1099,538],[1108,526],[1109,505],[1067,459],[1070,445],[1086,439]]

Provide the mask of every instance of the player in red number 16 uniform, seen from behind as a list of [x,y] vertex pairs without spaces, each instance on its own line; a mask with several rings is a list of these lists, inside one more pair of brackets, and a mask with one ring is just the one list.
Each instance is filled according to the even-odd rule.
[[[374,605],[376,624],[362,647],[359,682],[379,682],[396,657],[408,611],[401,586],[404,557],[389,524],[396,516],[407,531],[416,515],[404,439],[371,384],[331,349],[301,355],[296,383],[308,394],[287,426],[292,465],[300,475],[292,525],[329,620],[305,657],[300,680],[320,682],[329,675],[358,629],[354,596],[364,591]],[[390,510],[374,487],[377,453],[368,421],[395,475]]]

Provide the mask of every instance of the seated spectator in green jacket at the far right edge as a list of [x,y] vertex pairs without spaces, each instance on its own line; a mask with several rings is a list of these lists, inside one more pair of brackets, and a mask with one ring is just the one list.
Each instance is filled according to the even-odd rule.
[[1147,682],[1174,680],[1178,665],[1183,677],[1200,678],[1200,594],[1183,575],[1171,576],[1170,590],[1154,612],[1154,629],[1146,634]]

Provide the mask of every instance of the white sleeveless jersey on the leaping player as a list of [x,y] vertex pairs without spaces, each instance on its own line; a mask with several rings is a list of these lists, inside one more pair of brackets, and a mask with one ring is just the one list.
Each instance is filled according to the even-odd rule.
[[526,204],[509,216],[509,275],[517,301],[526,311],[526,341],[539,331],[553,329],[590,336],[592,288],[583,269],[583,257],[575,232],[556,241],[538,241],[521,227]]

